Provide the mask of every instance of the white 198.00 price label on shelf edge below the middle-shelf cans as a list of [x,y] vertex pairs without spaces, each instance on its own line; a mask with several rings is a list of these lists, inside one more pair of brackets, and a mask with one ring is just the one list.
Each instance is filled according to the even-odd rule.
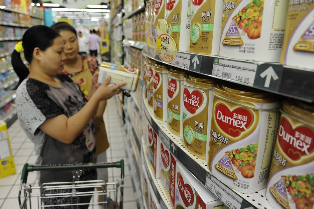
[[230,209],[253,208],[210,173],[207,173],[205,187]]

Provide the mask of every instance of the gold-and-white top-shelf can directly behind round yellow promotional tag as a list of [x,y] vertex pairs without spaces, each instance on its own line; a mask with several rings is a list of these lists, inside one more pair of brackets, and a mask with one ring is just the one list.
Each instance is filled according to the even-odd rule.
[[191,0],[166,0],[167,33],[176,43],[176,50],[189,50],[190,10]]

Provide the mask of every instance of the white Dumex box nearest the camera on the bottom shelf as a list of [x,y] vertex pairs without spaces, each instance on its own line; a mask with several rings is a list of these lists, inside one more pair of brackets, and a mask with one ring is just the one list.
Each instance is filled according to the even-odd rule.
[[227,207],[177,161],[175,208],[225,209]]

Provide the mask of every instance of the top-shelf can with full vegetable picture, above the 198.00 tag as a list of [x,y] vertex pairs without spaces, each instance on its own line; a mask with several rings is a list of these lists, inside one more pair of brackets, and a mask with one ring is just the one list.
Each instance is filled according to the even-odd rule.
[[289,1],[223,2],[219,55],[241,60],[279,62]]

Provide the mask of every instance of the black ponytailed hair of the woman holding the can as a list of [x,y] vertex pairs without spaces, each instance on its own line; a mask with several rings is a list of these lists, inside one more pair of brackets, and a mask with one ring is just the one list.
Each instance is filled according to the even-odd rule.
[[[33,59],[33,52],[36,47],[45,51],[48,47],[53,45],[53,40],[59,36],[60,35],[55,30],[45,25],[36,25],[29,28],[22,38],[25,60],[30,63]],[[19,77],[19,83],[17,85],[19,86],[30,71],[23,63],[20,53],[16,50],[12,53],[11,63],[15,73]]]

